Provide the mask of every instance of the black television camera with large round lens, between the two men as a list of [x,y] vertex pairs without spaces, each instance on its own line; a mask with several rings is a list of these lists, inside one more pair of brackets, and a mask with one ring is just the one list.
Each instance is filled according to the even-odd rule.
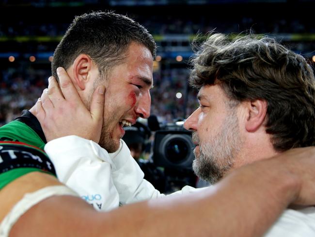
[[191,132],[184,127],[184,121],[159,125],[157,119],[148,119],[148,126],[155,131],[153,143],[153,164],[164,171],[165,193],[181,189],[185,185],[196,186],[197,177],[192,170],[195,145]]

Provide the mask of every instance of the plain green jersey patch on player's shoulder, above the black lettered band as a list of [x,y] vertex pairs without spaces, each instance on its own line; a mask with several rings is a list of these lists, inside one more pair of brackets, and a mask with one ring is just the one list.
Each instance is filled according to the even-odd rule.
[[0,136],[12,138],[13,141],[24,142],[42,150],[45,147],[45,143],[39,135],[20,121],[12,121],[0,127]]

